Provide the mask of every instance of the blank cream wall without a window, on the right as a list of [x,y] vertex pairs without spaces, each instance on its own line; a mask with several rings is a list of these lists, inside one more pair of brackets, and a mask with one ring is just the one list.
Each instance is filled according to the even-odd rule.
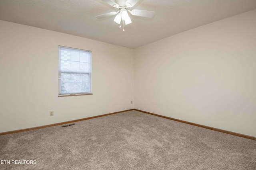
[[256,10],[134,54],[136,109],[256,137]]

